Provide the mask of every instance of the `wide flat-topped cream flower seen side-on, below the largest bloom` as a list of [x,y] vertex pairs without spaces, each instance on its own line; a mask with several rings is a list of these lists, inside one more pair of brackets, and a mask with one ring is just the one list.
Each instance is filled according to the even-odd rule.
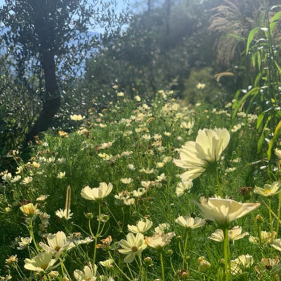
[[259,203],[240,203],[234,200],[221,199],[221,198],[201,198],[201,202],[195,202],[202,213],[204,218],[209,219],[210,221],[216,221],[218,226],[229,226],[232,221],[235,221],[237,218],[245,216],[250,211],[253,211],[256,208],[259,208]]

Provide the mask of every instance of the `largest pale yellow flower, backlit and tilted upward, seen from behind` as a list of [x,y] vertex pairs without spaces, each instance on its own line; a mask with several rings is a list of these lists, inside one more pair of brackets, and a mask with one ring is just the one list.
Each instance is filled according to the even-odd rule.
[[200,176],[210,163],[218,161],[229,141],[227,129],[199,130],[196,141],[186,142],[180,150],[180,159],[174,159],[176,166],[188,169],[181,178],[187,181]]

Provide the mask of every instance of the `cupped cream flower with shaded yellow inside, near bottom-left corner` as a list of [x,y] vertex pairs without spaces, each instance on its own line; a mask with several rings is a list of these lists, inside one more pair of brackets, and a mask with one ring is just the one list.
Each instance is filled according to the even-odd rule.
[[34,256],[33,259],[25,259],[25,269],[37,271],[37,272],[48,272],[53,269],[55,259],[51,251],[44,251]]

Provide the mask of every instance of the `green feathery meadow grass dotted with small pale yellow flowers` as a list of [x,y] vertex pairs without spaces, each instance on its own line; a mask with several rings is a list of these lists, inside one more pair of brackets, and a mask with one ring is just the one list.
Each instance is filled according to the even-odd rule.
[[[81,122],[73,122],[77,130],[65,134],[56,130],[46,133],[34,146],[29,162],[15,157],[18,166],[22,167],[20,180],[16,183],[3,181],[1,185],[1,221],[5,230],[1,233],[2,244],[5,244],[1,247],[1,274],[11,274],[13,280],[42,280],[42,277],[45,280],[63,280],[66,270],[61,266],[53,269],[58,271],[58,277],[44,273],[36,275],[23,268],[24,259],[37,254],[32,244],[21,251],[6,246],[11,244],[16,236],[29,236],[25,227],[28,218],[22,214],[19,207],[27,201],[34,204],[37,202],[38,209],[50,215],[46,229],[41,226],[41,233],[38,233],[38,230],[42,221],[39,216],[34,218],[34,236],[37,244],[39,241],[46,242],[47,233],[58,231],[65,232],[67,236],[78,232],[83,237],[95,236],[98,228],[98,203],[84,200],[80,193],[85,185],[94,188],[105,182],[112,183],[113,190],[101,202],[101,213],[110,218],[106,223],[102,223],[103,231],[98,237],[98,243],[110,235],[112,244],[110,251],[96,250],[97,275],[105,275],[106,278],[111,276],[115,280],[116,277],[118,280],[125,280],[125,275],[129,280],[161,280],[164,270],[165,280],[226,280],[224,265],[221,263],[223,243],[208,238],[217,228],[215,223],[210,221],[207,221],[204,227],[191,231],[187,244],[187,263],[185,268],[182,266],[181,251],[185,242],[185,229],[174,220],[179,215],[200,216],[197,207],[190,200],[198,201],[202,196],[214,197],[217,185],[214,176],[206,172],[193,181],[190,192],[178,197],[175,190],[181,181],[178,174],[182,174],[183,169],[178,168],[173,159],[178,159],[178,149],[181,145],[186,141],[195,141],[199,129],[226,128],[230,131],[230,143],[219,163],[223,195],[243,201],[240,188],[262,187],[264,183],[272,181],[268,177],[268,169],[263,169],[263,166],[267,165],[266,162],[262,155],[256,153],[259,136],[255,129],[254,116],[240,114],[237,124],[242,124],[242,127],[235,131],[235,124],[230,120],[231,108],[226,105],[225,108],[214,109],[204,104],[185,107],[178,100],[171,98],[171,93],[160,91],[151,103],[120,97],[115,105],[104,112],[92,114],[89,119]],[[112,142],[112,145],[109,142]],[[151,170],[151,173],[143,169]],[[58,177],[60,172],[65,173],[65,176]],[[12,174],[15,176],[15,171],[12,171]],[[22,180],[26,177],[32,177],[32,181],[24,185]],[[120,181],[122,178],[131,178],[132,182],[124,184]],[[115,198],[120,192],[125,192],[129,198],[133,198],[133,190],[143,188],[148,181],[152,182],[148,192],[134,197],[133,204],[126,205]],[[70,209],[73,216],[66,221],[56,216],[55,211],[65,209],[68,186],[71,187]],[[40,195],[49,196],[45,201],[38,202],[37,198]],[[269,231],[268,209],[263,201],[266,202],[266,199],[261,195],[252,194],[250,202],[261,202],[262,206],[232,223],[231,227],[242,226],[243,233],[249,232],[249,235],[257,236],[254,221],[255,216],[261,214],[264,220],[259,226],[261,230]],[[278,196],[275,195],[272,200],[275,214],[277,204]],[[6,209],[7,207],[9,209]],[[93,218],[86,218],[87,213],[91,213]],[[159,253],[150,247],[143,251],[141,261],[136,259],[129,263],[129,268],[124,263],[124,255],[117,251],[120,249],[119,241],[126,239],[126,234],[129,233],[127,225],[135,225],[141,218],[149,218],[153,222],[153,227],[145,236],[151,236],[159,223],[169,223],[169,231],[176,233],[171,243],[164,248],[163,268]],[[93,235],[89,230],[89,221]],[[274,219],[273,227],[276,228],[276,225]],[[87,263],[91,263],[93,244],[82,244],[63,254],[65,268],[70,274],[69,279],[75,280],[73,271],[82,270]],[[6,263],[4,267],[6,254],[17,254],[18,263]],[[254,264],[250,268],[243,268],[241,274],[232,275],[231,280],[256,280],[259,275],[254,267],[259,266],[263,258],[275,259],[278,251],[270,244],[252,244],[247,236],[234,244],[230,243],[231,260],[242,254],[253,256]],[[110,255],[115,260],[112,268],[100,266],[98,262],[109,259]],[[143,259],[147,256],[151,257],[152,265],[145,266]],[[205,268],[200,266],[198,258],[202,256],[210,266],[208,263],[205,263]],[[279,268],[275,267],[274,270]],[[271,270],[266,270],[260,276],[261,280],[279,280]]]

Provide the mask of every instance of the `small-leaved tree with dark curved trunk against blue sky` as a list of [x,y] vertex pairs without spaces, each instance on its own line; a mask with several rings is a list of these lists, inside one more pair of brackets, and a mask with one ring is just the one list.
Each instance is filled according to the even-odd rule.
[[25,75],[26,65],[34,61],[39,62],[39,73],[41,70],[44,73],[42,108],[26,135],[27,141],[46,130],[58,112],[59,67],[70,66],[64,69],[69,74],[71,66],[81,63],[86,51],[101,44],[100,37],[93,36],[89,27],[103,26],[106,30],[120,27],[124,17],[116,15],[113,4],[114,0],[98,0],[93,4],[87,0],[5,0],[0,22],[5,27],[5,44],[17,61],[18,74]]

